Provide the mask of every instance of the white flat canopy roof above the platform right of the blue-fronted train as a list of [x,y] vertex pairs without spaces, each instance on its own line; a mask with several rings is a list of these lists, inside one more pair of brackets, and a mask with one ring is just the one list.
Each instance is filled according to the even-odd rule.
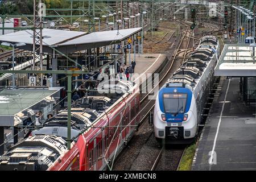
[[215,76],[256,76],[256,47],[226,44],[214,69]]

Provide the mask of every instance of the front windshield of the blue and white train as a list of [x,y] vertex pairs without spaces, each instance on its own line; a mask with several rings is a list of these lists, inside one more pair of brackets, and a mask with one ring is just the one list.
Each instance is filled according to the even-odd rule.
[[178,114],[184,113],[187,103],[187,94],[185,93],[164,93],[163,94],[164,111],[166,113]]

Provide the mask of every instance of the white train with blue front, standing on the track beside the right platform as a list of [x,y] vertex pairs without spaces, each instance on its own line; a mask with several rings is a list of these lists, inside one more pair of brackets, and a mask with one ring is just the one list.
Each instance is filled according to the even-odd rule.
[[196,137],[219,54],[218,39],[203,37],[189,59],[159,90],[154,109],[156,140],[179,144],[191,143]]

